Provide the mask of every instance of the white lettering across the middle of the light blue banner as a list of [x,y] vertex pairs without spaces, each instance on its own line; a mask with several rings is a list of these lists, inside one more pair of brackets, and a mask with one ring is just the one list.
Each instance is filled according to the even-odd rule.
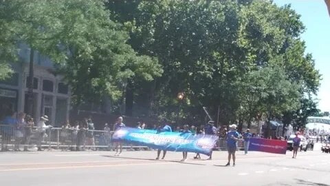
[[192,143],[192,140],[188,140],[179,136],[159,136],[157,134],[150,134],[150,133],[131,133],[129,136],[134,138],[144,138],[155,143],[177,143],[177,144],[188,144]]

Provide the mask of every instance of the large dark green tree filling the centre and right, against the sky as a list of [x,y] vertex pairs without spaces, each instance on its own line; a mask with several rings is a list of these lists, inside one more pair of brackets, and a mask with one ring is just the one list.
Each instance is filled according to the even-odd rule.
[[[221,123],[227,124],[236,120],[244,105],[248,113],[244,119],[250,123],[259,113],[259,102],[245,102],[243,92],[252,96],[253,87],[246,84],[244,90],[239,82],[250,72],[274,66],[289,74],[281,77],[287,79],[284,84],[299,87],[300,94],[294,92],[290,100],[300,99],[304,92],[314,94],[319,86],[320,75],[299,38],[303,23],[289,6],[226,0],[111,2],[116,6],[108,8],[124,21],[132,47],[139,54],[157,57],[164,67],[163,76],[152,86],[146,83],[146,89],[138,90],[153,95],[149,102],[156,114],[203,118],[197,107],[206,105],[213,113],[220,107]],[[125,7],[131,8],[129,14]],[[178,92],[185,93],[183,102],[177,101]]]

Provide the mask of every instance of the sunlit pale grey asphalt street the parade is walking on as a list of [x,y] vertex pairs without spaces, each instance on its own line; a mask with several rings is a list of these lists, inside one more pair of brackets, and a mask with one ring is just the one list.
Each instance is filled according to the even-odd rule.
[[0,153],[0,185],[330,185],[330,154],[286,155],[237,152],[235,167],[224,167],[226,152],[213,160],[180,163],[180,152],[5,152]]

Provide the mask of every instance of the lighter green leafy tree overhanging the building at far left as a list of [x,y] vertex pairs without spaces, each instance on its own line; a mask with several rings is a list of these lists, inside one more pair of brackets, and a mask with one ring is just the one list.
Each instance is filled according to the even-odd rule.
[[[8,13],[1,17],[8,23],[8,38],[13,40],[3,43],[13,49],[17,43],[26,43],[32,54],[38,50],[49,56],[64,73],[77,103],[99,102],[107,95],[118,99],[126,79],[151,81],[153,76],[160,76],[162,67],[156,59],[137,56],[126,44],[128,34],[120,23],[111,21],[104,2],[1,1],[0,8]],[[30,63],[33,67],[33,58]]]

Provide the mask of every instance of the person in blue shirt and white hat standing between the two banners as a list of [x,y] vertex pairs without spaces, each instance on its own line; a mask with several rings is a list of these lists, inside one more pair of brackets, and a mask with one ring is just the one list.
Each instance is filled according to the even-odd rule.
[[230,165],[230,159],[232,156],[232,166],[235,166],[237,149],[237,141],[239,140],[239,132],[236,131],[237,126],[235,124],[229,125],[230,131],[227,133],[227,148],[228,148],[228,163],[225,166]]

